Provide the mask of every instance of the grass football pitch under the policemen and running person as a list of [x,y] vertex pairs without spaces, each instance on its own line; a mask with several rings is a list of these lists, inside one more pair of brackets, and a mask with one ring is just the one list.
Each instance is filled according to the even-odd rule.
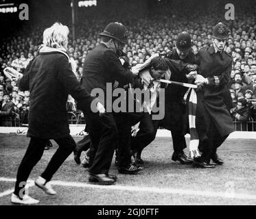
[[[16,171],[29,140],[0,134],[0,205],[12,205]],[[75,164],[72,153],[52,179],[56,196],[47,196],[34,186],[34,179],[57,149],[51,142],[53,148],[45,151],[29,179],[29,194],[40,200],[39,205],[256,204],[256,140],[226,140],[218,152],[224,165],[201,169],[173,162],[172,139],[158,137],[143,151],[144,169],[138,175],[120,175],[112,164],[110,174],[118,177],[115,185],[89,183],[87,169]]]

